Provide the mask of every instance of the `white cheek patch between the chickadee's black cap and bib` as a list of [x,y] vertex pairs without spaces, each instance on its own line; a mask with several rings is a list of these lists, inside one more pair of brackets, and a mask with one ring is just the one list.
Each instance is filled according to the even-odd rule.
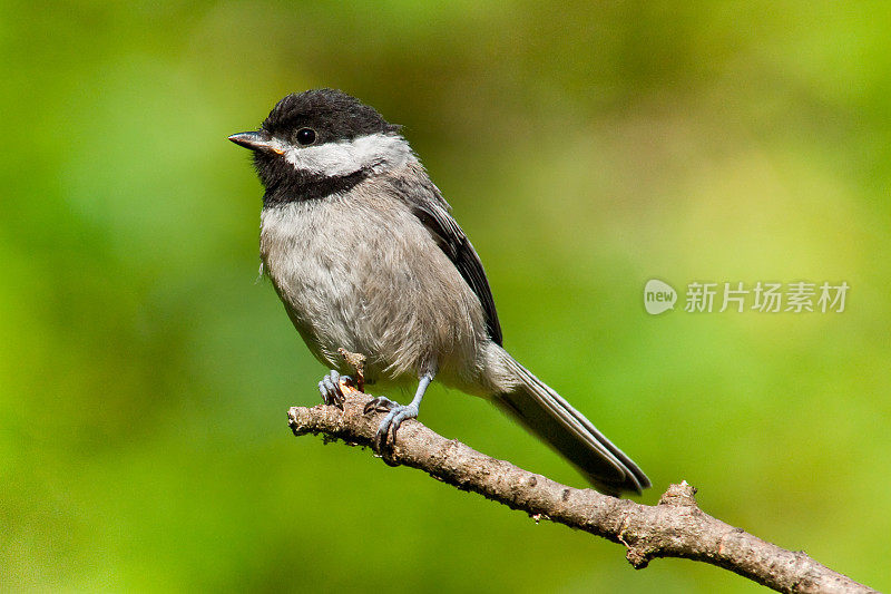
[[303,173],[340,177],[360,169],[380,173],[404,165],[411,156],[409,144],[392,134],[370,134],[353,140],[296,147],[278,140],[285,160]]

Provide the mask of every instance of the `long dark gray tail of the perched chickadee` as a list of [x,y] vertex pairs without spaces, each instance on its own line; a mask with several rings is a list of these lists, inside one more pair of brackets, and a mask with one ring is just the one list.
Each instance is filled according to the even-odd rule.
[[[507,354],[507,353],[506,353]],[[650,486],[647,476],[591,421],[509,356],[519,384],[495,397],[502,410],[565,456],[600,491],[618,497]]]

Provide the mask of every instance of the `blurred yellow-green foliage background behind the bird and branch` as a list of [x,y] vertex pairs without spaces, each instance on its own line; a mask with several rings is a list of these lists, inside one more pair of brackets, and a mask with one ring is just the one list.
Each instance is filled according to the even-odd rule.
[[[640,464],[642,502],[686,479],[891,590],[887,3],[4,2],[0,56],[0,588],[758,588],[291,435],[324,370],[256,282],[226,136],[330,86],[404,125],[506,347]],[[652,277],[851,291],[650,317]],[[482,400],[437,387],[421,418],[581,486]]]

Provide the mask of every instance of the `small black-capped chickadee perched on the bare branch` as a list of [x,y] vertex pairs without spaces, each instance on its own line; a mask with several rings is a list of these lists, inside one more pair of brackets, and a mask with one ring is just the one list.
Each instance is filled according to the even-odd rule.
[[340,90],[288,95],[256,132],[234,134],[254,152],[266,188],[261,213],[263,267],[291,321],[322,364],[327,405],[341,406],[337,349],[366,356],[369,383],[418,381],[388,410],[386,442],[435,377],[491,399],[601,491],[640,493],[649,479],[630,458],[501,345],[482,264],[451,207],[400,127]]

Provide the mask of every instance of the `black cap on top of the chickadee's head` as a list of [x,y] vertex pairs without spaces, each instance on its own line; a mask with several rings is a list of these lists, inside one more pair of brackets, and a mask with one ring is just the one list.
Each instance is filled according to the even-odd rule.
[[301,128],[316,134],[316,145],[351,140],[379,133],[398,133],[399,126],[388,123],[371,106],[336,89],[313,89],[286,96],[263,121],[271,136],[294,140]]

